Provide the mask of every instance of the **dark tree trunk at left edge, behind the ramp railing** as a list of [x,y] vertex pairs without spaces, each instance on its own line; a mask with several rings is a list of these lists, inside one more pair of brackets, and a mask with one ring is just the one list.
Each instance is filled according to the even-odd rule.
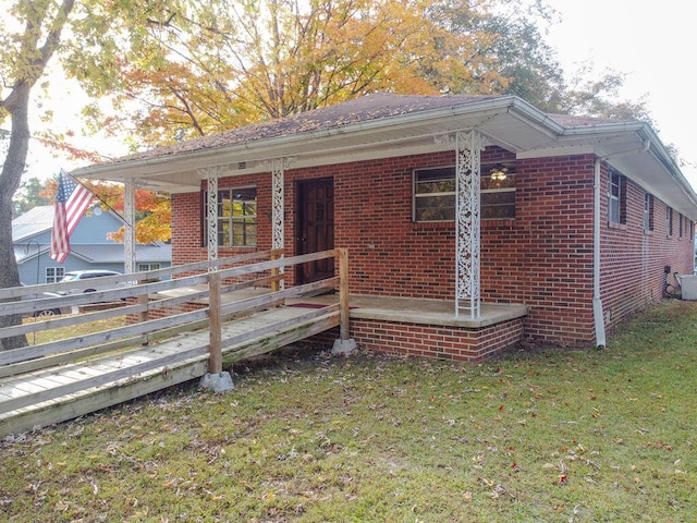
[[[15,104],[10,109],[12,118],[10,147],[0,174],[0,267],[2,267],[0,288],[3,289],[20,285],[20,272],[12,243],[12,196],[20,187],[29,148],[29,89],[21,89],[20,96],[14,101]],[[0,327],[20,325],[21,323],[22,315],[20,314],[0,316]],[[0,350],[3,351],[26,345],[25,336],[0,339]]]

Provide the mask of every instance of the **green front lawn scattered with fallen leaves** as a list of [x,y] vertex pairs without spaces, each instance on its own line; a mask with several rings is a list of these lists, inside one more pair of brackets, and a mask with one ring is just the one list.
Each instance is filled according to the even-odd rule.
[[480,365],[298,349],[7,438],[0,520],[688,522],[697,304]]

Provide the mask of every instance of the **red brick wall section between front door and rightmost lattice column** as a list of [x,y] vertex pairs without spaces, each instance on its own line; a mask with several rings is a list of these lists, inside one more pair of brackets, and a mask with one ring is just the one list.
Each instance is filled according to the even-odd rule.
[[335,243],[348,247],[352,292],[452,299],[455,231],[412,221],[412,170],[454,154],[346,163],[334,174]]

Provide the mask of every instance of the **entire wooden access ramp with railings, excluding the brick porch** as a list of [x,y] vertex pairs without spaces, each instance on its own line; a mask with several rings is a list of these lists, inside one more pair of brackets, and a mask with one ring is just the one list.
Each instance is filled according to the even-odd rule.
[[[62,300],[63,305],[73,306],[87,301],[98,302],[110,293],[117,297],[127,295],[130,301],[114,311],[5,327],[0,329],[0,335],[7,338],[40,332],[113,316],[130,315],[139,320],[108,331],[0,352],[0,437],[78,417],[208,373],[220,374],[223,364],[272,352],[334,327],[340,327],[344,336],[347,333],[348,307],[347,288],[343,283],[346,265],[342,254],[337,250],[255,264],[246,264],[242,256],[235,260],[245,262],[244,266],[206,275],[144,283],[125,290],[56,297]],[[344,277],[291,289],[273,285],[281,278],[277,270],[283,264],[320,256],[338,256]],[[221,260],[216,263],[222,264]],[[264,270],[270,270],[271,276],[260,275]],[[254,277],[239,279],[245,275]],[[144,273],[142,279],[148,280],[151,276],[151,272]],[[201,281],[205,282],[203,291]],[[234,297],[241,290],[269,281],[272,284],[266,291],[247,293],[244,299]],[[187,283],[194,287],[186,288]],[[339,285],[339,296],[327,306],[288,305],[306,293],[335,285]],[[168,290],[174,290],[173,294],[168,294]],[[0,290],[0,299],[3,291],[5,295],[14,292]],[[19,289],[16,292],[26,291]],[[0,302],[0,314],[36,311],[45,307],[47,300]],[[48,300],[51,306],[54,305],[52,300]],[[194,311],[148,319],[148,312],[171,311],[183,305],[195,305]]]

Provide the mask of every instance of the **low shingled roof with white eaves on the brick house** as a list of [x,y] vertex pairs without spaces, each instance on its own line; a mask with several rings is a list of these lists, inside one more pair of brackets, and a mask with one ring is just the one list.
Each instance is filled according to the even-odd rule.
[[171,193],[199,191],[204,169],[225,175],[268,172],[269,160],[293,168],[453,148],[435,139],[477,130],[518,158],[592,154],[681,214],[697,220],[697,195],[645,122],[546,114],[514,96],[375,94],[285,119],[157,147],[73,171]]

